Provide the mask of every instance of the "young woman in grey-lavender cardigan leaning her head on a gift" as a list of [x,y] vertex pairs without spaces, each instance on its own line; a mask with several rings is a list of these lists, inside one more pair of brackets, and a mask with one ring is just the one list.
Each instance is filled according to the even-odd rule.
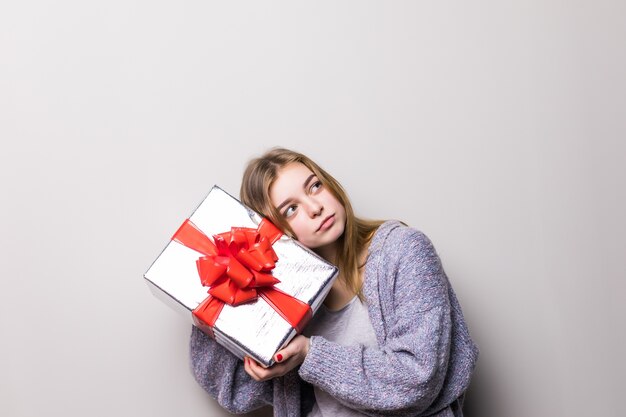
[[306,156],[252,160],[241,200],[339,267],[320,310],[263,368],[197,328],[197,381],[227,410],[275,416],[462,416],[478,349],[439,257],[421,232],[354,215],[339,183]]

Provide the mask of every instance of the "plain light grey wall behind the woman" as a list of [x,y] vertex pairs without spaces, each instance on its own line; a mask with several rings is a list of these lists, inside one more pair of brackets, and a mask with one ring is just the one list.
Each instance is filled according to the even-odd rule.
[[228,415],[142,274],[273,145],[433,240],[481,349],[469,415],[622,415],[625,16],[3,2],[0,415]]

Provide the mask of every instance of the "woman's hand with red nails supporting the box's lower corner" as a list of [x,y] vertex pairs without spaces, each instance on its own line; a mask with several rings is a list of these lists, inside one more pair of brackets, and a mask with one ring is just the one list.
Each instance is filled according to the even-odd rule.
[[309,353],[310,345],[311,341],[308,337],[298,335],[287,346],[276,352],[274,365],[264,368],[254,359],[246,356],[243,358],[244,368],[255,381],[267,381],[277,376],[283,376],[304,362],[304,358]]

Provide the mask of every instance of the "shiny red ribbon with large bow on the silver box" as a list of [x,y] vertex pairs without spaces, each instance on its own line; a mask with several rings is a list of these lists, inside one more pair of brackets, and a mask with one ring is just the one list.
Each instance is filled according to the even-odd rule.
[[261,220],[257,229],[233,227],[213,235],[213,241],[187,219],[172,240],[202,253],[196,261],[202,285],[209,297],[193,310],[196,326],[213,335],[213,326],[224,304],[238,306],[263,298],[298,333],[311,317],[311,307],[280,291],[280,282],[270,272],[278,256],[272,245],[282,232],[271,222]]

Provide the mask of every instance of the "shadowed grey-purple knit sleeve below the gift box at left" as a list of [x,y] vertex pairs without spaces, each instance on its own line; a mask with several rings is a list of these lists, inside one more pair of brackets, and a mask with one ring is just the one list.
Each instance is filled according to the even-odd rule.
[[243,362],[193,326],[191,368],[196,381],[231,413],[246,413],[272,404],[272,381],[257,382]]

